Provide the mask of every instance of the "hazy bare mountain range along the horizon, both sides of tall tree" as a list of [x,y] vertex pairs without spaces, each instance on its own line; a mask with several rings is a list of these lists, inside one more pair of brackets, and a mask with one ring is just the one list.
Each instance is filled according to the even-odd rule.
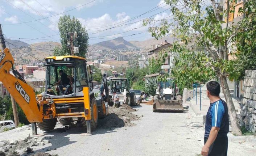
[[[59,42],[38,42],[29,45],[28,43],[18,40],[6,40],[6,46],[11,49],[12,55],[15,58],[25,58],[32,60],[35,60],[35,58],[42,60],[47,56],[51,56],[53,55],[53,48],[56,46],[61,46]],[[159,45],[161,42],[164,43],[165,40],[169,43],[173,43],[173,38],[170,37],[164,37],[159,40],[150,38],[145,41],[126,41],[122,37],[117,37],[109,41],[103,41],[94,45],[90,45],[88,49],[91,50],[92,47],[96,47],[97,49],[112,50],[141,48],[147,51],[151,48],[151,45]]]

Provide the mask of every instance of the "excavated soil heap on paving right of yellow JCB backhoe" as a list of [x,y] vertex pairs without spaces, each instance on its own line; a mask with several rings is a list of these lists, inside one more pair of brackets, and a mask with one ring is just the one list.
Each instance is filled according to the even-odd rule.
[[131,106],[122,105],[119,108],[114,106],[108,108],[108,115],[104,119],[98,120],[98,128],[118,128],[118,127],[131,127],[135,123],[130,121],[140,120],[141,117],[132,114],[131,111],[137,111]]

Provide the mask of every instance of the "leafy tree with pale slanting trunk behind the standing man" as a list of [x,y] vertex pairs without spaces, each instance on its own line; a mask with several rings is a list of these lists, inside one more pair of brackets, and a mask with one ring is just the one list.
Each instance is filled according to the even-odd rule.
[[[168,33],[172,33],[176,38],[180,39],[185,45],[191,44],[191,49],[196,47],[204,48],[207,59],[200,66],[210,66],[214,69],[215,75],[219,77],[224,97],[228,104],[228,111],[232,129],[235,135],[242,135],[239,121],[236,115],[235,106],[231,98],[228,88],[227,78],[237,79],[238,75],[234,72],[234,60],[228,59],[228,49],[232,42],[235,42],[235,36],[243,36],[244,39],[252,37],[250,41],[255,41],[255,27],[247,25],[252,18],[255,19],[256,4],[255,0],[247,0],[240,13],[244,13],[244,19],[237,25],[229,25],[229,13],[234,12],[235,0],[225,1],[227,9],[223,13],[219,13],[216,8],[215,0],[211,0],[211,5],[207,6],[203,0],[165,0],[170,5],[173,14],[173,21],[168,23],[162,20],[160,26],[150,27],[149,31],[155,38],[161,38]],[[182,7],[181,5],[182,4]],[[246,11],[244,11],[246,10]],[[227,20],[226,22],[223,19]],[[255,22],[255,20],[253,20]],[[144,25],[152,23],[153,20],[147,19]],[[254,25],[255,26],[255,25]],[[172,32],[170,32],[170,28]],[[248,34],[244,32],[247,31]],[[249,45],[249,44],[248,44]],[[174,46],[179,49],[179,46]],[[247,47],[249,48],[249,46]],[[188,49],[189,50],[189,49]],[[241,49],[242,50],[242,49]],[[190,50],[189,50],[190,51]],[[243,51],[243,50],[242,50]],[[179,51],[181,52],[181,51]],[[199,60],[201,60],[200,58]],[[188,63],[191,60],[187,61]],[[200,72],[200,70],[198,70]]]

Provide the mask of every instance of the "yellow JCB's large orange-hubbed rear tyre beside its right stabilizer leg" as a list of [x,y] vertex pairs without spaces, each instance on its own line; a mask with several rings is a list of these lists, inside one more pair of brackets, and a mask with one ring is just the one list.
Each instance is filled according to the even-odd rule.
[[[90,123],[91,123],[91,128],[94,129],[97,127],[97,122],[98,122],[98,107],[97,107],[97,102],[94,97],[90,97],[90,107],[91,107]],[[95,114],[94,114],[94,112],[95,112]],[[94,117],[94,115],[96,115],[96,116]],[[82,117],[81,122],[84,127],[87,127],[85,118]]]

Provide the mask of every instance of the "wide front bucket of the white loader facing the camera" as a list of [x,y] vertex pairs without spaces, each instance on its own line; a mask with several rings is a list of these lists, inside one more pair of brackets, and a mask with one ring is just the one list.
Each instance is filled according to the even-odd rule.
[[154,100],[153,112],[183,112],[182,100]]

